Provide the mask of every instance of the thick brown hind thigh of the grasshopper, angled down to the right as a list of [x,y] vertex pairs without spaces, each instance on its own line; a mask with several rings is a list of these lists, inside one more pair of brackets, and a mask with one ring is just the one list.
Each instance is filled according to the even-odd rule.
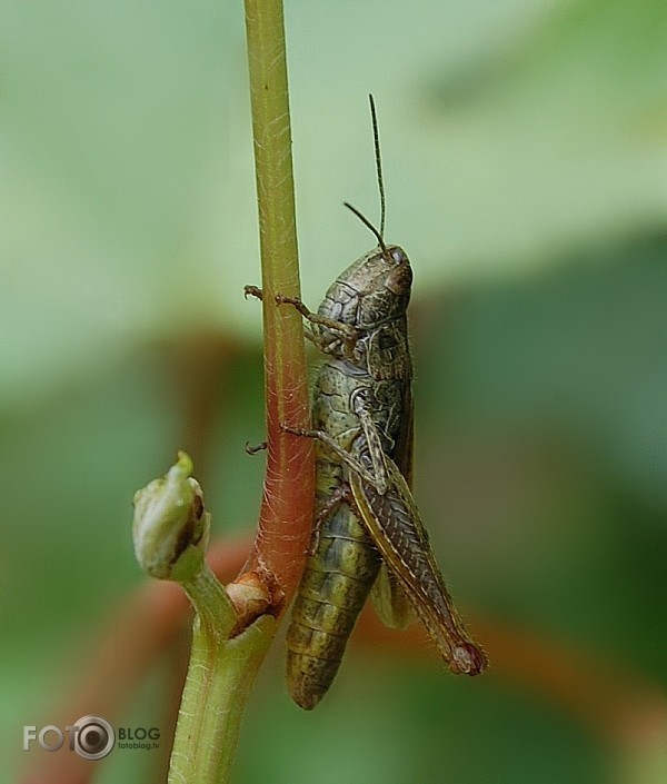
[[[367,464],[370,458],[362,443],[357,450],[361,464]],[[386,466],[389,483],[385,494],[350,473],[360,517],[451,672],[477,675],[487,665],[486,656],[454,606],[402,474],[389,457]]]

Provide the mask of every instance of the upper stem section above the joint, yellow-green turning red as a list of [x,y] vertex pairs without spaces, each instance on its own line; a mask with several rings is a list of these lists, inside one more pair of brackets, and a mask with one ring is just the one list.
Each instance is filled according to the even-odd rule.
[[303,328],[277,292],[299,297],[299,267],[281,0],[246,0],[246,28],[262,268],[267,478],[259,530],[247,570],[273,591],[279,617],[296,591],[310,539],[312,444],[285,434],[309,427]]

